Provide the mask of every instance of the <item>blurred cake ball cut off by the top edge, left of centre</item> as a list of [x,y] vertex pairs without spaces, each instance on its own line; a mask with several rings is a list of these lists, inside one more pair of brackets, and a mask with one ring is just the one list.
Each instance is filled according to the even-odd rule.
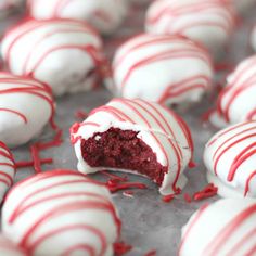
[[115,31],[126,16],[128,0],[28,0],[28,12],[37,20],[86,21],[103,34]]

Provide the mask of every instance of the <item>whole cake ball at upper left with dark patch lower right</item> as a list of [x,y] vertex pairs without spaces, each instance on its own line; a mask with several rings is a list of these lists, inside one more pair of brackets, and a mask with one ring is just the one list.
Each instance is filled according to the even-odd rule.
[[47,82],[55,95],[94,88],[105,64],[97,33],[71,20],[18,24],[5,34],[2,56],[12,73]]

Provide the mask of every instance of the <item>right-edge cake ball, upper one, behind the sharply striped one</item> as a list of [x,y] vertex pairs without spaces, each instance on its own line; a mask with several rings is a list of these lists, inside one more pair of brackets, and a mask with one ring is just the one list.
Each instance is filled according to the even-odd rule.
[[256,55],[243,61],[227,78],[217,110],[209,117],[216,127],[256,119]]

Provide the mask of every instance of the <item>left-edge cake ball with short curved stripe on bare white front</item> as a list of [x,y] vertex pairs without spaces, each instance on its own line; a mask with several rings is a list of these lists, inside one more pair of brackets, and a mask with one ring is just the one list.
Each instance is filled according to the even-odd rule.
[[37,80],[0,73],[0,141],[15,148],[36,138],[53,123],[51,89]]

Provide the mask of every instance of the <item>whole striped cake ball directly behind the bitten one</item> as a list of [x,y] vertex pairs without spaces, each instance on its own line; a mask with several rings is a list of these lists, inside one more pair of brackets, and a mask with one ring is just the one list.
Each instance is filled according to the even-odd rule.
[[[143,88],[146,85],[142,95],[138,94],[137,97],[148,99],[149,97],[145,98],[148,90],[156,89],[151,88],[152,81],[149,80],[146,75],[142,78],[142,74],[146,74],[143,72],[154,66],[156,73],[157,66],[162,68],[165,63],[165,65],[170,65],[171,67],[168,69],[168,74],[166,74],[167,71],[162,71],[162,75],[169,77],[169,73],[176,72],[172,65],[175,63],[179,65],[181,60],[188,60],[188,62],[191,62],[191,66],[197,66],[197,71],[188,75],[185,72],[179,69],[177,71],[177,74],[179,74],[178,77],[177,75],[175,76],[177,78],[170,77],[167,84],[158,81],[158,91],[156,92],[159,95],[156,99],[152,99],[153,101],[165,103],[168,100],[175,101],[175,99],[189,93],[197,91],[197,94],[202,94],[202,92],[208,90],[212,81],[212,61],[208,53],[202,47],[181,36],[136,36],[124,43],[115,56],[113,71],[116,90],[125,98],[130,98],[131,95],[136,98],[131,94],[135,87]],[[184,65],[189,67],[189,63],[184,63]],[[201,72],[200,67],[202,68]],[[138,76],[140,78],[135,82]],[[131,79],[133,79],[133,84]]]

